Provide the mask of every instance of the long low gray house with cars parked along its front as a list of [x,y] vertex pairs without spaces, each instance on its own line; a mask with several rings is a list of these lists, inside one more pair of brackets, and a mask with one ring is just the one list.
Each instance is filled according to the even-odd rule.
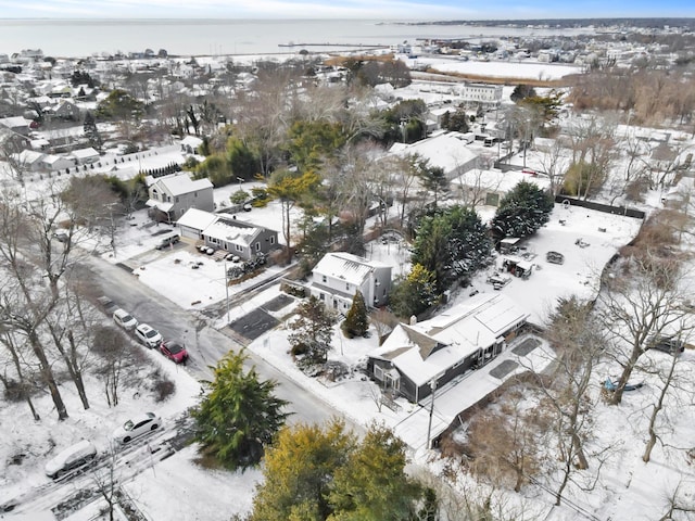
[[278,232],[252,225],[228,214],[211,214],[191,208],[176,223],[182,238],[233,253],[243,260],[268,254],[278,247]]

